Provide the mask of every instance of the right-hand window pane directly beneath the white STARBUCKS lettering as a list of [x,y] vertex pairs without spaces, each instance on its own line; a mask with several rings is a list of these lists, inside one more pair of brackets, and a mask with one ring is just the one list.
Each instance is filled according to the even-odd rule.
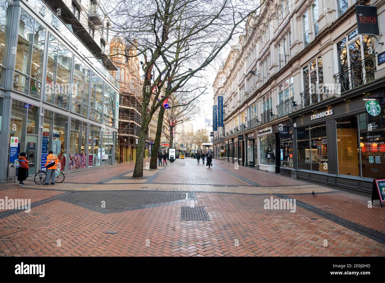
[[326,124],[310,127],[311,170],[328,172]]

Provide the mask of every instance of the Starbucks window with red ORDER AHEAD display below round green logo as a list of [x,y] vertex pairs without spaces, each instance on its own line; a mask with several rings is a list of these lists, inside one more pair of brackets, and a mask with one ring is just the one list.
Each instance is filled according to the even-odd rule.
[[385,172],[385,111],[377,116],[362,113],[360,149],[362,177],[380,179]]

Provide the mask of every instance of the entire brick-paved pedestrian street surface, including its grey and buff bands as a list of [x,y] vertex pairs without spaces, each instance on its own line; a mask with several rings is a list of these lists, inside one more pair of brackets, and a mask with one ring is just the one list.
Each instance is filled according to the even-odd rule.
[[[35,206],[0,210],[0,256],[385,256],[385,209],[369,198],[224,161],[168,164],[139,179],[131,163],[5,184],[0,199]],[[296,199],[295,212],[264,209],[271,197]],[[182,206],[209,221],[181,221]]]

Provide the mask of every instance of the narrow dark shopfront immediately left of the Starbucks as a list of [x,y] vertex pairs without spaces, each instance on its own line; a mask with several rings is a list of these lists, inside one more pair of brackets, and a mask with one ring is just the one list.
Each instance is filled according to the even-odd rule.
[[293,126],[289,120],[273,126],[276,135],[276,173],[291,177],[293,171]]

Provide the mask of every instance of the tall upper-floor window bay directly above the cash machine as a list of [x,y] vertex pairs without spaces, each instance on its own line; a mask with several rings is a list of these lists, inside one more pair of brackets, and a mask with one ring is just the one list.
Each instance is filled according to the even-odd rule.
[[40,98],[45,28],[21,9],[13,89]]

